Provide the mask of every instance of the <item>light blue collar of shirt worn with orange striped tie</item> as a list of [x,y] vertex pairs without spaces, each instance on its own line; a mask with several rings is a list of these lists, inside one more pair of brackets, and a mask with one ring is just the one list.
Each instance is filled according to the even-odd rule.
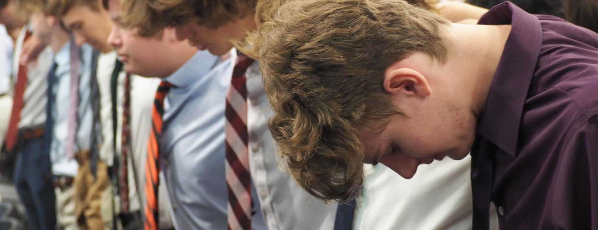
[[205,76],[218,61],[219,57],[208,51],[197,51],[181,68],[164,78],[164,81],[170,82],[177,88],[190,87],[193,82]]

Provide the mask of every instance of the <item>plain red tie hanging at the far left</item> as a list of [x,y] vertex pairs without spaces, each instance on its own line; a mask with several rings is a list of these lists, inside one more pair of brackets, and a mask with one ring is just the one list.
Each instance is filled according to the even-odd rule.
[[[31,32],[25,32],[23,43],[29,39]],[[14,146],[17,145],[17,132],[19,131],[19,121],[21,119],[21,109],[23,109],[23,93],[27,85],[27,66],[19,65],[19,73],[17,73],[17,82],[14,86],[13,110],[10,115],[10,122],[8,123],[8,130],[6,136],[5,150],[10,152]]]

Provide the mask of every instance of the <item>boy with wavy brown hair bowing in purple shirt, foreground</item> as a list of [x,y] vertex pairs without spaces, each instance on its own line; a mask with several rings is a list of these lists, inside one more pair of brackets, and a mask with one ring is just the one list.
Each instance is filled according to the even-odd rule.
[[588,31],[510,2],[475,25],[401,0],[289,2],[260,30],[270,130],[322,200],[351,198],[364,162],[410,179],[471,149],[473,229],[489,228],[490,201],[501,229],[595,229]]

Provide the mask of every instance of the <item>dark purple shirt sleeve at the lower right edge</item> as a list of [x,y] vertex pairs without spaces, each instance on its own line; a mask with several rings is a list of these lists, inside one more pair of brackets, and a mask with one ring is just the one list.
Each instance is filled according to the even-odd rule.
[[598,116],[573,133],[560,163],[550,229],[598,229]]

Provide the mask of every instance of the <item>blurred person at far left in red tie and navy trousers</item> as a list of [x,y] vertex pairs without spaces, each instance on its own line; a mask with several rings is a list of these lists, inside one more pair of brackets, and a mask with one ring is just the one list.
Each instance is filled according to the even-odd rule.
[[[8,16],[20,17],[17,16],[16,3],[18,2],[8,1],[11,7],[2,9],[3,20]],[[14,18],[9,21],[15,22]],[[51,49],[47,48],[36,59],[36,65],[20,65],[22,47],[33,39],[30,38],[30,34],[30,26],[24,26],[14,46],[11,67],[14,103],[10,113],[7,139],[3,146],[5,152],[2,154],[13,155],[16,158],[14,185],[25,206],[29,228],[55,229],[56,203],[48,153],[49,141],[44,138],[47,76],[52,65],[53,54]],[[7,158],[4,157],[2,162],[4,172],[7,170],[6,163]]]

